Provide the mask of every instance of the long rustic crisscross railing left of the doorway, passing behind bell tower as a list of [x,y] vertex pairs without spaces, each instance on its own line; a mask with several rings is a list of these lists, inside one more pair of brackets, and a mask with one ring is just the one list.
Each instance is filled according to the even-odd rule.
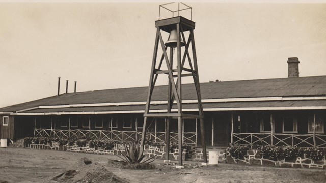
[[[83,138],[90,137],[93,139],[111,139],[117,141],[132,141],[135,137],[142,136],[142,132],[136,131],[118,131],[118,130],[53,130],[53,129],[35,129],[35,136],[40,137],[66,137],[66,138]],[[155,142],[165,142],[165,132],[148,132],[146,139]],[[196,132],[184,132],[183,143],[197,146]],[[170,141],[178,141],[178,133],[170,132]]]

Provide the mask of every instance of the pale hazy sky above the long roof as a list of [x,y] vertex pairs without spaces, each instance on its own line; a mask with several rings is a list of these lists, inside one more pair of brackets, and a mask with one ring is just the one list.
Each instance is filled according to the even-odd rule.
[[[58,76],[60,93],[148,86],[163,3],[0,2],[0,107],[57,95]],[[326,2],[185,3],[200,82],[286,78],[289,57],[326,75]]]

